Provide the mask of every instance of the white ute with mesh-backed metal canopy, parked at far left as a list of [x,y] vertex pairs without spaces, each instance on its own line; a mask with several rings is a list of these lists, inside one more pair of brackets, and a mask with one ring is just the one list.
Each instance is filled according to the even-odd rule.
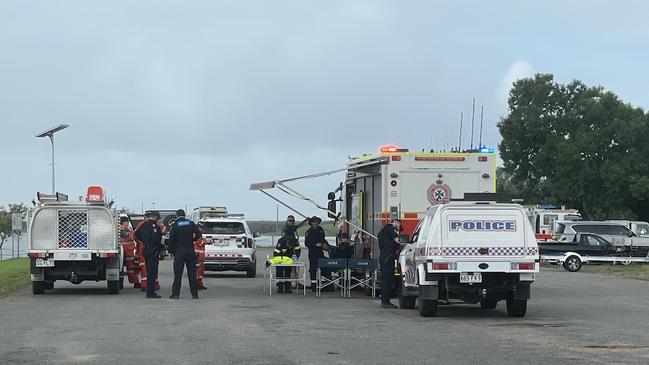
[[117,213],[106,204],[101,187],[88,187],[85,202],[39,193],[29,216],[33,293],[53,289],[56,280],[105,280],[110,294],[119,293],[124,277],[117,235]]

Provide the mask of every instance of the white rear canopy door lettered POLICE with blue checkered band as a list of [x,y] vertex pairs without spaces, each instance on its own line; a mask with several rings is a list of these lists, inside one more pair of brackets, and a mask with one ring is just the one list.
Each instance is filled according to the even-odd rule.
[[526,223],[529,222],[523,211],[481,205],[444,209],[441,255],[492,261],[527,256]]

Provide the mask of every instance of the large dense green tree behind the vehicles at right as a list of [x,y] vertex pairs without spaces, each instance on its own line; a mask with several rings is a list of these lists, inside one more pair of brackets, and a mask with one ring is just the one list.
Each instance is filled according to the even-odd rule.
[[552,75],[514,83],[503,174],[526,200],[563,204],[590,219],[649,218],[649,115],[602,87]]

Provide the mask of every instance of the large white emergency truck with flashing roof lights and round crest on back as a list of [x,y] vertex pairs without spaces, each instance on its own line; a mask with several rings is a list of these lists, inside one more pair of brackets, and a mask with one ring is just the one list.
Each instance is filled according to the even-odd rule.
[[[397,146],[352,158],[342,184],[341,215],[376,236],[390,219],[403,223],[401,234],[412,235],[431,206],[463,199],[465,193],[496,191],[496,154],[482,148],[471,152],[410,152]],[[329,207],[336,209],[335,194]],[[331,210],[331,209],[330,209]],[[372,239],[372,258],[379,248]]]

